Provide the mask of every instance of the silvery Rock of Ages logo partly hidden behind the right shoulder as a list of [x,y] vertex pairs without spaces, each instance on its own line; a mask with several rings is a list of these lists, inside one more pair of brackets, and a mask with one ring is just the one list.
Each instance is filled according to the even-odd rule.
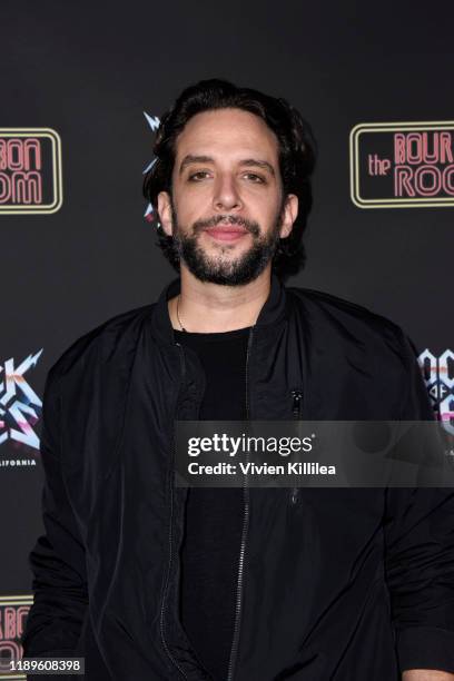
[[426,348],[418,359],[436,415],[454,435],[454,352],[445,349],[436,356]]

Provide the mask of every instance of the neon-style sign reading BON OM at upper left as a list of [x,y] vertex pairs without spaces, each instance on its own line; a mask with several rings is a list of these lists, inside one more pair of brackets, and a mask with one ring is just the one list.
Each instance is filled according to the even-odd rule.
[[0,128],[0,215],[56,213],[61,140],[50,128]]

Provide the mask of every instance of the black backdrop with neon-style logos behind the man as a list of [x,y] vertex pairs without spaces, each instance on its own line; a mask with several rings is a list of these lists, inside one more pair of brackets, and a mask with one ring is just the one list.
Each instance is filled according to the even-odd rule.
[[[144,111],[159,116],[186,85],[225,77],[300,109],[319,158],[308,261],[290,284],[391,317],[435,358],[435,402],[437,386],[443,396],[454,389],[453,208],[362,209],[349,187],[356,125],[454,119],[453,18],[448,2],[420,1],[1,3],[0,139],[56,130],[63,200],[46,215],[0,205],[0,648],[17,640],[29,602],[42,484],[38,450],[12,433],[13,399],[30,395],[18,379],[11,397],[4,377],[42,348],[23,374],[42,397],[48,368],[72,340],[152,302],[174,276],[144,219],[154,140]],[[454,398],[444,405],[454,412]],[[26,421],[39,435],[39,405],[34,414]]]

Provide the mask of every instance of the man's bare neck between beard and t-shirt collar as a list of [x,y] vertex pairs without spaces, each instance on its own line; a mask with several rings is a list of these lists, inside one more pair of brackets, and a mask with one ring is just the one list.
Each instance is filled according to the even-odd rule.
[[[199,282],[181,266],[181,290],[168,302],[174,328],[217,333],[254,326],[270,289],[270,266],[250,284],[219,286]],[[178,303],[178,315],[177,315]],[[180,322],[181,325],[180,325]]]

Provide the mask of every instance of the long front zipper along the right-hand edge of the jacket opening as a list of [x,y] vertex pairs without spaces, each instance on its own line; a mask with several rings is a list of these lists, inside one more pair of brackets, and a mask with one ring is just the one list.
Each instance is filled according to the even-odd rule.
[[[249,421],[249,388],[248,388],[248,368],[249,368],[249,355],[250,347],[253,344],[254,326],[249,332],[249,338],[247,342],[246,351],[246,371],[245,371],[245,385],[246,385],[246,421]],[[243,532],[241,532],[241,544],[239,549],[239,561],[238,561],[238,579],[236,589],[236,604],[235,604],[235,624],[234,624],[234,638],[231,641],[230,659],[228,662],[227,681],[233,681],[235,673],[235,663],[238,654],[239,644],[239,630],[240,630],[240,618],[241,618],[241,604],[243,604],[243,582],[244,582],[244,564],[246,554],[246,540],[249,527],[249,490],[247,486],[247,475],[245,475],[243,483],[243,499],[244,499],[244,516],[243,516]]]

